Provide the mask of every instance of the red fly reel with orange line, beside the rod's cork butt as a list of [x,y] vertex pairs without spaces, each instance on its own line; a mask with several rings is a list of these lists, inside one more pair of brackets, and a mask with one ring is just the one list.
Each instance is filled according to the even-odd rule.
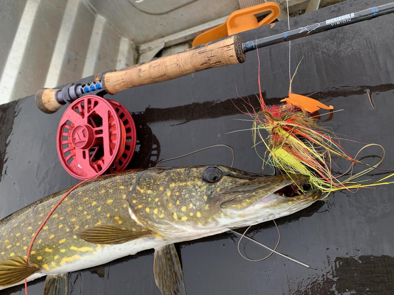
[[61,117],[59,159],[78,179],[122,171],[132,158],[136,137],[133,118],[123,105],[100,96],[83,96]]

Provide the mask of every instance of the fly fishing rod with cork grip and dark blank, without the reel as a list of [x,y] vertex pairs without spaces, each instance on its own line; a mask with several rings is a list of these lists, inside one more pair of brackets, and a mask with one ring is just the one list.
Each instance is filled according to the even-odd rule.
[[89,92],[104,90],[108,94],[116,94],[132,87],[168,81],[209,68],[243,63],[246,59],[245,53],[249,51],[393,12],[394,2],[247,42],[244,42],[240,35],[233,35],[185,52],[161,57],[123,70],[106,72],[100,75],[100,79],[91,83],[72,83],[61,90],[44,88],[37,92],[35,100],[41,111],[50,114],[56,112],[65,103],[72,103]]

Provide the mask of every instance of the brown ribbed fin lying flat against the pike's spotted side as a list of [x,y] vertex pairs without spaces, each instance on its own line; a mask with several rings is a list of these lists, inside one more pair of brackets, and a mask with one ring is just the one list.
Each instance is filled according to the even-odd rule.
[[123,244],[132,240],[151,236],[149,231],[127,230],[109,224],[100,224],[76,232],[82,240],[94,244]]

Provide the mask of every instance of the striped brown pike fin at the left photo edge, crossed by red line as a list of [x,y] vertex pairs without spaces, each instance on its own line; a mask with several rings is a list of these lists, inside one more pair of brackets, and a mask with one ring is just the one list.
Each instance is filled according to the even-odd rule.
[[0,287],[10,286],[40,271],[37,265],[30,265],[26,258],[13,256],[0,261]]

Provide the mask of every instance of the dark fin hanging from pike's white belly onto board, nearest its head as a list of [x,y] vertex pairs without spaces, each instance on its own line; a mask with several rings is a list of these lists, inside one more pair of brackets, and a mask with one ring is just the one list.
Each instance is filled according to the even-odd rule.
[[162,295],[186,295],[183,273],[174,244],[154,249],[153,273]]

